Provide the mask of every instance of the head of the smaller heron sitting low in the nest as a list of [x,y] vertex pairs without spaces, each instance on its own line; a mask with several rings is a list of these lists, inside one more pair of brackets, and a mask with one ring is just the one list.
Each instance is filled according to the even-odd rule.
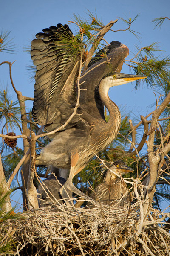
[[[125,164],[125,162],[123,162],[122,160],[117,160],[113,163],[113,166],[111,166],[110,168],[110,172],[113,171],[117,174],[121,174],[124,175],[127,172],[133,172],[134,170],[132,168],[130,168],[129,166],[127,166]],[[111,175],[115,176],[115,174],[111,172]]]

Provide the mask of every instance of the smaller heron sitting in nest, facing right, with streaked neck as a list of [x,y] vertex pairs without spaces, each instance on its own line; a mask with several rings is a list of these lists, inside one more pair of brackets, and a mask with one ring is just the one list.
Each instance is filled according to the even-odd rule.
[[[91,193],[91,198],[105,205],[116,204],[122,196],[124,196],[122,202],[129,201],[130,193],[128,192],[127,186],[123,183],[121,177],[117,175],[125,175],[127,172],[133,171],[134,170],[125,165],[122,160],[115,161],[113,166],[107,170],[103,183],[99,184],[94,192]],[[88,202],[88,205],[91,205],[91,203]],[[92,207],[94,207],[94,205],[91,206],[91,208]]]

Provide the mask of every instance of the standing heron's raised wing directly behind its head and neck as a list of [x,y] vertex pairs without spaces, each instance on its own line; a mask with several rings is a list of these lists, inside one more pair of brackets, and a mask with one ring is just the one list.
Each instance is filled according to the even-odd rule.
[[99,96],[98,85],[101,79],[113,71],[120,72],[123,61],[129,54],[126,45],[112,41],[110,45],[100,50],[88,64],[80,82],[82,88],[80,102],[82,108],[96,120],[104,119],[104,106]]

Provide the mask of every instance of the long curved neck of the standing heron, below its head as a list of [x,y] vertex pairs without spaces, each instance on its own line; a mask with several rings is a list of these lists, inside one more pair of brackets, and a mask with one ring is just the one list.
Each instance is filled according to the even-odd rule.
[[110,114],[110,119],[106,126],[112,128],[112,131],[114,130],[114,136],[116,137],[121,124],[121,115],[118,106],[111,101],[111,99],[108,96],[109,88],[111,87],[110,83],[106,82],[107,79],[102,79],[102,81],[99,84],[99,94],[101,97],[101,100],[105,107],[108,109]]

